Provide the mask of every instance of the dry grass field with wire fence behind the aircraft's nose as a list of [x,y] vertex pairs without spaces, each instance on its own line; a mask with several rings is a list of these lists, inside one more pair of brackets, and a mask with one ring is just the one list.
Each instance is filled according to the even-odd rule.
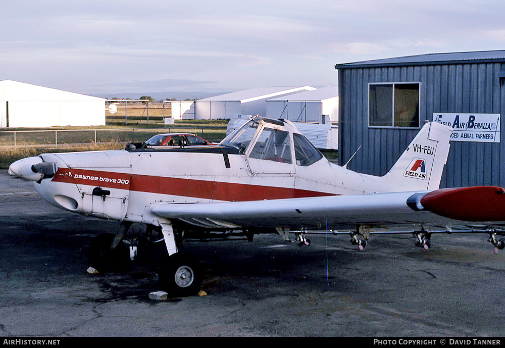
[[[2,146],[0,168],[7,169],[11,163],[19,159],[41,153],[118,150],[124,148],[128,141],[145,141],[160,133],[196,133],[215,142],[226,136],[228,120],[176,120],[175,125],[165,127],[164,117],[170,115],[170,108],[163,110],[161,105],[149,106],[149,121],[147,122],[145,106],[128,105],[126,116],[124,106],[118,106],[118,112],[114,115],[107,112],[106,126],[5,128],[0,130],[0,146]],[[37,132],[21,132],[27,130]],[[14,146],[14,133],[11,131],[17,131],[17,146]],[[54,145],[55,142],[57,146]],[[338,152],[324,151],[323,154],[330,161],[335,162]]]

